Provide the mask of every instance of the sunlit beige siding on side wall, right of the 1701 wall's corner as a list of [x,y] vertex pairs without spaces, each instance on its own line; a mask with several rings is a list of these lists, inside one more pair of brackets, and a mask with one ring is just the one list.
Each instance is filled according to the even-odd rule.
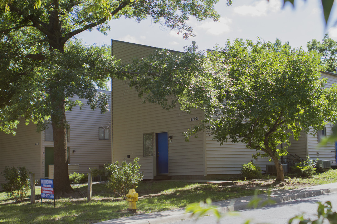
[[[240,174],[241,166],[250,162],[255,153],[243,143],[228,141],[220,145],[212,136],[206,135],[207,175]],[[258,158],[254,163],[262,170],[266,170],[266,164],[270,164],[267,158]]]

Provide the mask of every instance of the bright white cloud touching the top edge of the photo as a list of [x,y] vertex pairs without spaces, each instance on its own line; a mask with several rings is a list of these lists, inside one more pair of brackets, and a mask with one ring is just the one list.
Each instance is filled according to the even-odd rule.
[[275,13],[281,10],[280,0],[259,0],[251,5],[243,5],[234,8],[234,12],[240,15],[265,16],[268,13]]

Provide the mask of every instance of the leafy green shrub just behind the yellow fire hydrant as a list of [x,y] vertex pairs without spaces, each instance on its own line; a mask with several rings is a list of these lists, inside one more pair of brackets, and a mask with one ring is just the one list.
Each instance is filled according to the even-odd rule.
[[129,189],[136,188],[143,179],[139,168],[138,158],[134,158],[133,164],[126,161],[123,161],[120,166],[118,162],[105,164],[104,169],[110,174],[106,186],[113,189],[116,195],[126,199]]

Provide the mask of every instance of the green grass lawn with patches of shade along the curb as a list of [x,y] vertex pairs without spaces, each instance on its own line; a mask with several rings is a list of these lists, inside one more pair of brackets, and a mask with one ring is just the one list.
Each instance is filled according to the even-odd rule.
[[[274,178],[273,176],[268,176]],[[294,187],[301,184],[326,184],[337,182],[337,170],[317,174],[312,178],[286,177],[293,182]],[[244,187],[244,186],[241,186]],[[139,193],[137,202],[138,213],[150,213],[186,207],[190,203],[211,198],[212,201],[231,199],[253,195],[254,190],[241,187],[216,186],[184,181],[142,182],[136,188]],[[104,220],[129,216],[127,202],[113,197],[113,192],[104,184],[94,184],[92,200],[87,202],[87,186],[78,188],[79,193],[70,198],[56,200],[54,205],[43,204],[39,198],[40,189],[35,194],[39,198],[35,204],[30,204],[29,196],[23,203],[13,203],[12,198],[0,192],[0,223],[96,223]],[[264,193],[265,191],[259,191]],[[45,201],[45,199],[43,199]]]

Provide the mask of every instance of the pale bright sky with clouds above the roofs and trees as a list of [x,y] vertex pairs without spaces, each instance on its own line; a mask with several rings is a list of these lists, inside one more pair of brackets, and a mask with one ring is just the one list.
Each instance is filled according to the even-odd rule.
[[308,41],[321,41],[326,33],[337,40],[336,2],[327,26],[320,0],[295,0],[295,7],[289,2],[283,6],[283,0],[233,0],[233,4],[227,7],[225,0],[219,0],[215,6],[220,14],[219,21],[198,22],[190,17],[187,24],[193,27],[196,36],[188,40],[177,31],[154,24],[151,19],[137,23],[126,18],[111,20],[107,36],[93,30],[82,32],[76,38],[89,45],[110,45],[114,39],[177,51],[183,51],[192,41],[196,42],[198,50],[206,50],[216,45],[224,46],[227,39],[262,38],[275,42],[279,38],[282,43],[289,41],[293,48],[307,50]]

